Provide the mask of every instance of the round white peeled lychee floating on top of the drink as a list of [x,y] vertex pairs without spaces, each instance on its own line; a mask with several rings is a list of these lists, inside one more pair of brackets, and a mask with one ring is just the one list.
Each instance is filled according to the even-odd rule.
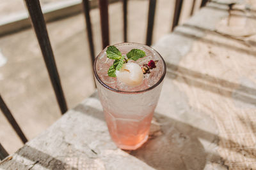
[[136,87],[143,81],[143,71],[138,64],[128,62],[123,65],[122,69],[116,70],[116,77],[126,85]]

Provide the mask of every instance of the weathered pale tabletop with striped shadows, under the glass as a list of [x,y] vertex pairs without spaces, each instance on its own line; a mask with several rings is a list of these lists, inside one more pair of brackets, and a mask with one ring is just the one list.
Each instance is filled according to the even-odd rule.
[[141,148],[116,148],[95,93],[0,168],[256,169],[255,4],[228,11],[225,2],[208,4],[154,46],[168,69]]

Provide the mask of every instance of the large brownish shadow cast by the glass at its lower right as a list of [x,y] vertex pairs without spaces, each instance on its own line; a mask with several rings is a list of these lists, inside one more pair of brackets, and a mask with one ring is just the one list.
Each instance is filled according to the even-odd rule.
[[218,136],[159,113],[154,113],[154,118],[157,121],[151,125],[147,143],[128,153],[156,169],[204,169],[208,161],[225,167],[221,157],[206,152],[199,141],[218,145]]

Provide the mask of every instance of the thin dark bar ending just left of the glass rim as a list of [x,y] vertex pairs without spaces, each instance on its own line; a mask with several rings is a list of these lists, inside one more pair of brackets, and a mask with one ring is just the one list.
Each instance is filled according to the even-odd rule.
[[95,54],[94,54],[94,45],[93,45],[93,38],[92,38],[92,24],[91,24],[91,18],[90,18],[89,0],[83,0],[83,10],[84,10],[84,17],[85,17],[85,22],[87,27],[88,43],[90,45],[92,66],[93,66],[93,62],[95,60]]

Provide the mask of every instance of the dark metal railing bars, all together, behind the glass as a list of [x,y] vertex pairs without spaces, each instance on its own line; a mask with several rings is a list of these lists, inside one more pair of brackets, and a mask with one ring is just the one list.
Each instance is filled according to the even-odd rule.
[[[123,3],[123,22],[124,22],[124,41],[127,41],[127,0],[121,0]],[[152,44],[152,35],[154,29],[154,16],[156,11],[156,3],[157,0],[148,0],[148,25],[147,25],[147,39],[145,44],[150,46]],[[193,11],[195,8],[195,1],[193,0],[191,15],[193,15]],[[202,0],[200,7],[205,6],[209,0]],[[40,49],[42,55],[44,57],[45,66],[47,67],[47,71],[51,80],[52,87],[55,92],[56,99],[58,101],[58,105],[60,107],[61,113],[64,114],[68,108],[67,103],[65,101],[65,96],[63,94],[63,90],[61,87],[60,76],[58,74],[58,69],[56,67],[56,62],[54,60],[54,53],[52,52],[51,43],[49,41],[49,36],[47,33],[44,15],[42,13],[39,0],[24,0],[26,6],[29,11],[29,17],[31,20],[31,24],[33,25],[33,29],[36,34],[36,38],[38,39],[38,43],[40,45]],[[92,24],[90,19],[90,6],[89,0],[83,0],[83,11],[84,18],[87,26],[87,35],[88,35],[88,43],[90,45],[90,55],[92,64],[95,59],[95,52],[93,46],[93,32],[92,32]],[[182,8],[183,0],[175,1],[175,10],[173,16],[173,29],[179,24],[180,11]],[[99,9],[100,9],[100,25],[101,25],[101,36],[102,36],[102,49],[109,45],[109,21],[108,21],[108,0],[99,0]],[[13,129],[21,139],[23,143],[26,143],[28,139],[20,129],[19,125],[15,121],[11,111],[8,109],[6,104],[4,103],[3,98],[0,95],[0,109],[3,111],[4,116],[8,120],[8,122],[12,125]],[[3,146],[0,143],[0,160],[3,160],[4,157],[7,157],[8,153],[4,150]]]

